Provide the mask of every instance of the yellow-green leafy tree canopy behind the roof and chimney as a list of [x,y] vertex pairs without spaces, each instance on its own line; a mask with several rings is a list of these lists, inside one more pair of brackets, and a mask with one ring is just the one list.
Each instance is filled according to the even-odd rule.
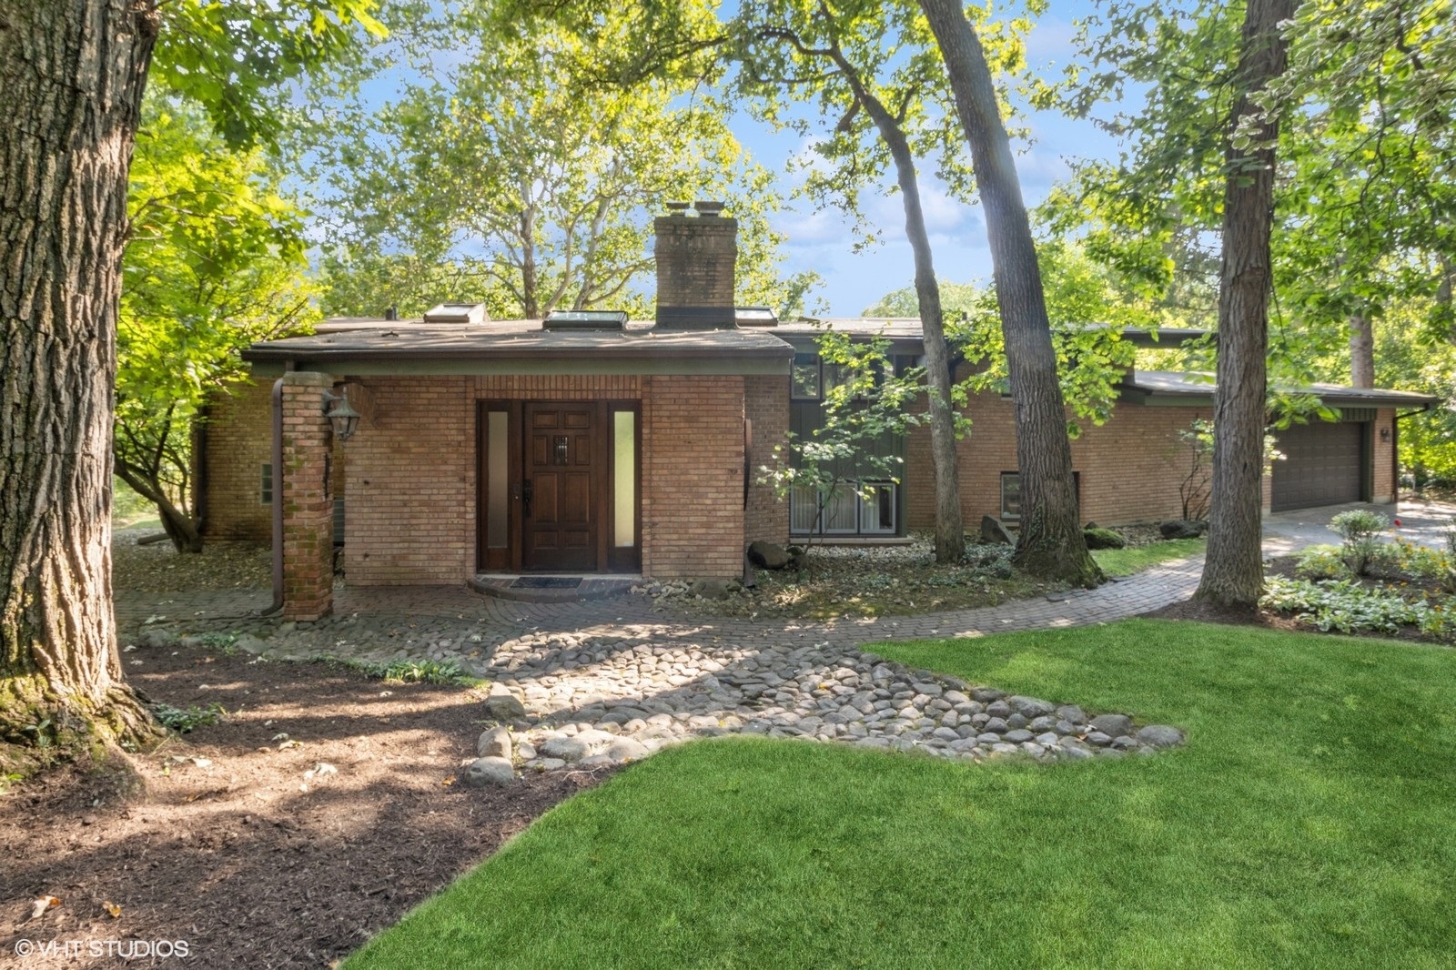
[[502,33],[489,13],[464,4],[415,25],[399,96],[339,115],[317,201],[326,310],[476,300],[499,318],[651,316],[651,216],[677,198],[725,201],[738,218],[741,301],[804,307],[814,277],[780,278],[775,181],[722,103],[671,77],[600,83],[581,36],[543,22]]

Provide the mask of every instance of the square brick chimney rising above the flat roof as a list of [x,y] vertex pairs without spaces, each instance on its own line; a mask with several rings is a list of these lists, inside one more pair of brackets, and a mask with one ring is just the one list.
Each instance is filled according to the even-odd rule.
[[722,202],[668,202],[652,223],[657,245],[657,325],[671,329],[732,328],[738,220],[721,216]]

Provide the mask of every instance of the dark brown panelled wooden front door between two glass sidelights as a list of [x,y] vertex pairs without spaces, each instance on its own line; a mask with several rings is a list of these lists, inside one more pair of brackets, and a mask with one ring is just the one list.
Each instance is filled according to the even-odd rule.
[[521,567],[577,571],[597,568],[597,478],[594,402],[527,403],[521,482]]

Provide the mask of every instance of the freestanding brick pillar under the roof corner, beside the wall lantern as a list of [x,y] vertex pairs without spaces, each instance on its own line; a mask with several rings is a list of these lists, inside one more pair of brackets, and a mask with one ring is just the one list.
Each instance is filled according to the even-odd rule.
[[323,417],[329,374],[282,377],[282,615],[333,612],[333,430]]

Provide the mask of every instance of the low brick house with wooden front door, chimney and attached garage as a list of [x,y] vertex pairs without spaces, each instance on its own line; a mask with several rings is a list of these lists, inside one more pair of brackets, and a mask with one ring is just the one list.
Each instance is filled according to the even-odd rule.
[[[243,352],[253,382],[218,398],[197,449],[198,510],[213,537],[272,536],[285,615],[326,615],[342,537],[349,584],[457,584],[479,574],[732,577],[756,539],[821,532],[875,542],[929,527],[929,433],[904,441],[900,482],[866,484],[817,516],[756,481],[775,447],[818,414],[817,329],[737,307],[737,223],[721,205],[655,220],[658,310],[488,320],[443,304],[421,320],[333,319],[310,336]],[[920,355],[919,320],[830,320]],[[1315,389],[1338,424],[1290,433],[1293,472],[1265,505],[1393,501],[1396,408],[1433,399]],[[326,412],[360,412],[347,441]],[[1073,443],[1083,517],[1102,524],[1179,513],[1188,452],[1211,385],[1128,371],[1114,417]],[[1015,518],[1012,408],[968,406],[961,501],[968,523]],[[269,430],[272,433],[269,434]],[[275,501],[277,500],[277,501]],[[281,510],[274,516],[274,510]]]

